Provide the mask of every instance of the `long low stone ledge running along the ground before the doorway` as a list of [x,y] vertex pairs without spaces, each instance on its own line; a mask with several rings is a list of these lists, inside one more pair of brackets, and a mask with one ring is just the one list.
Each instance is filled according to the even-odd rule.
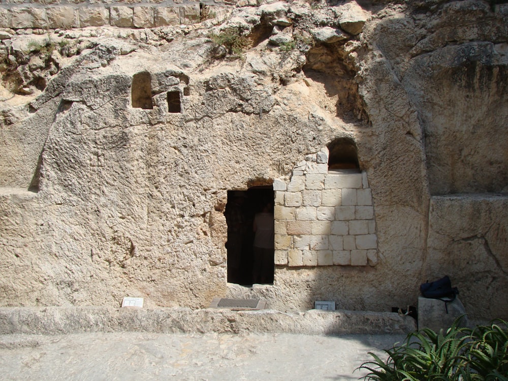
[[113,307],[3,307],[0,334],[71,334],[82,332],[161,333],[299,333],[405,334],[416,329],[412,317],[391,312],[229,309],[113,308]]

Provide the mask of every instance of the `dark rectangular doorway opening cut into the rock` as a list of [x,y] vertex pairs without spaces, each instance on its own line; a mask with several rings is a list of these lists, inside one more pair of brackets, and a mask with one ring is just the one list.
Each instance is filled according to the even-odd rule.
[[[224,212],[228,224],[228,282],[273,284],[273,204],[271,185],[228,190]],[[271,242],[268,243],[270,230]],[[261,247],[264,250],[260,250],[259,246],[271,247]]]

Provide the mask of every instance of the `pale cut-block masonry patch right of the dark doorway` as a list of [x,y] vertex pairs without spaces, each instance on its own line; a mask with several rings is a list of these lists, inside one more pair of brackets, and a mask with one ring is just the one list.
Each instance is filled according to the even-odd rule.
[[372,193],[366,172],[328,171],[327,152],[308,155],[289,182],[274,180],[275,264],[374,266]]

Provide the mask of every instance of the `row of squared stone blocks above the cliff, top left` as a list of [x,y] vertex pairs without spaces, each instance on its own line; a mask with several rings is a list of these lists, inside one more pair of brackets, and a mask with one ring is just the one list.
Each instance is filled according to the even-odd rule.
[[200,20],[203,5],[231,3],[186,0],[2,0],[0,27],[80,28],[112,25],[151,28]]

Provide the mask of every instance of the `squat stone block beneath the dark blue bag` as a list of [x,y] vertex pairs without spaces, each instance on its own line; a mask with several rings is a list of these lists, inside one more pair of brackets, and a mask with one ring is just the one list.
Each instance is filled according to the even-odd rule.
[[[448,313],[447,313],[448,307]],[[464,305],[455,298],[453,302],[446,305],[442,300],[429,299],[423,296],[418,297],[418,328],[430,328],[433,331],[449,328],[457,317],[466,313]],[[460,326],[466,327],[468,321],[466,316],[463,317]]]

